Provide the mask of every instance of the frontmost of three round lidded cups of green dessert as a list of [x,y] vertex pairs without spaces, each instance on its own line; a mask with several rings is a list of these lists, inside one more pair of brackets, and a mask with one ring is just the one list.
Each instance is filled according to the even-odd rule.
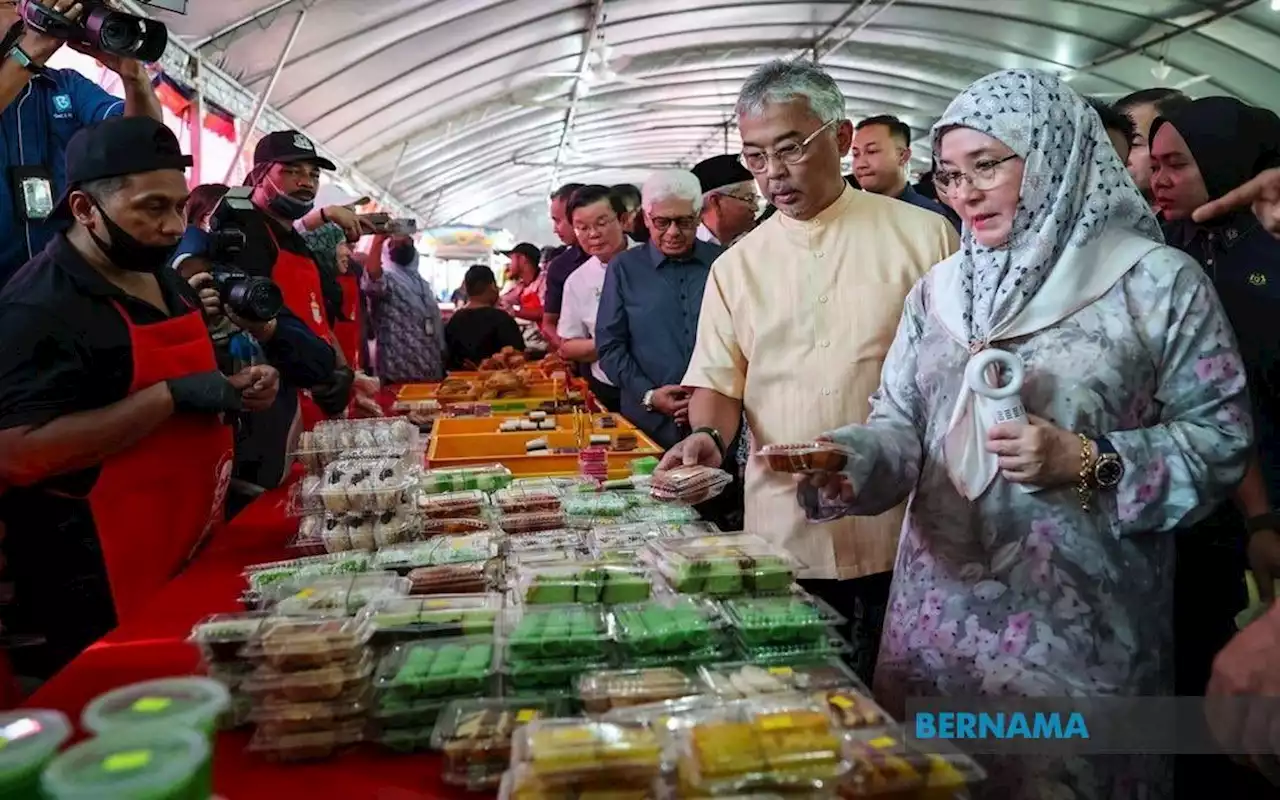
[[81,742],[45,768],[50,800],[195,797],[209,737],[186,728],[132,728]]

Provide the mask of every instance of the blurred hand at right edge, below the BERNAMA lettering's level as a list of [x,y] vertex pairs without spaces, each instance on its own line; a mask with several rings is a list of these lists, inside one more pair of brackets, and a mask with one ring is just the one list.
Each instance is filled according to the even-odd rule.
[[1248,760],[1277,782],[1280,718],[1274,709],[1280,695],[1280,605],[1274,604],[1222,648],[1204,694],[1210,730],[1224,750],[1253,753]]

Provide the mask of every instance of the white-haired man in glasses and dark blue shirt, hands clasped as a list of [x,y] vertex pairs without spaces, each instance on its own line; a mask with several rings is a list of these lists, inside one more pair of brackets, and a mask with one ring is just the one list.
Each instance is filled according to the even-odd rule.
[[692,173],[654,173],[641,191],[650,238],[609,262],[595,347],[622,392],[622,415],[668,448],[687,435],[689,392],[680,381],[694,355],[707,275],[724,248],[695,237],[703,192]]

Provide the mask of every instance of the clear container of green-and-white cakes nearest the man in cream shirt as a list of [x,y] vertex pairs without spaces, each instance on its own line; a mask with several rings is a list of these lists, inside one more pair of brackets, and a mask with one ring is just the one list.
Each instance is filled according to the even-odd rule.
[[799,562],[750,534],[660,540],[650,545],[658,571],[684,594],[778,594],[791,588]]

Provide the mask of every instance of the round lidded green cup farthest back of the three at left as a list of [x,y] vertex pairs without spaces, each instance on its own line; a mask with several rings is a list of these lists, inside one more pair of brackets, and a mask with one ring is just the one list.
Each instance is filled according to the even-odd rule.
[[97,736],[131,728],[191,728],[211,737],[228,705],[230,694],[218,681],[160,678],[99,695],[84,707],[81,724]]

